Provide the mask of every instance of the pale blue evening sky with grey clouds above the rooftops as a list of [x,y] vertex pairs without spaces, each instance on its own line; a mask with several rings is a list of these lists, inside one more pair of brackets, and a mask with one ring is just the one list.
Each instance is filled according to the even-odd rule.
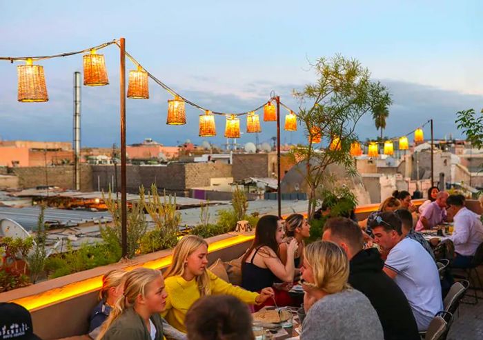
[[[483,108],[482,13],[480,0],[0,0],[0,56],[58,54],[124,37],[126,50],[168,86],[229,113],[259,106],[272,90],[298,108],[293,90],[316,80],[309,64],[339,53],[359,60],[391,92],[385,135],[397,137],[434,119],[435,137],[461,137],[455,113]],[[119,145],[119,49],[99,53],[106,56],[110,84],[82,88],[82,146]],[[49,101],[19,103],[18,63],[0,61],[1,139],[72,141],[72,79],[82,71],[81,54],[39,64]],[[126,68],[135,66],[126,61]],[[185,126],[166,125],[171,98],[150,82],[150,99],[127,99],[128,144],[204,140],[195,108],[186,108]],[[224,124],[217,117],[218,135],[206,140],[225,143]],[[379,135],[370,114],[356,132],[360,139]],[[275,133],[275,123],[262,123],[259,141]],[[282,131],[281,139],[303,143],[306,137],[299,129]],[[255,135],[238,141],[255,142]]]

